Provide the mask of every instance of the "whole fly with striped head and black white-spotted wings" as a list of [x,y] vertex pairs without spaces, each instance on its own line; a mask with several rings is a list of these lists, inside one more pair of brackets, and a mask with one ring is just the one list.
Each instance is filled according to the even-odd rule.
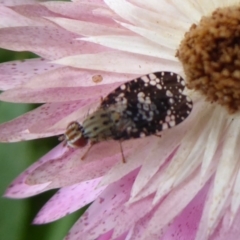
[[192,101],[184,80],[172,72],[151,73],[126,82],[103,99],[82,123],[70,123],[61,137],[70,147],[108,139],[126,140],[157,134],[184,121]]

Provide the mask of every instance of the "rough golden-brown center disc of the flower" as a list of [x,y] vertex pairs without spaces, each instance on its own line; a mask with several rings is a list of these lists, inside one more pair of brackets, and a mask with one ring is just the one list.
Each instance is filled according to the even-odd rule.
[[217,9],[185,34],[177,51],[187,87],[230,113],[240,110],[240,8]]

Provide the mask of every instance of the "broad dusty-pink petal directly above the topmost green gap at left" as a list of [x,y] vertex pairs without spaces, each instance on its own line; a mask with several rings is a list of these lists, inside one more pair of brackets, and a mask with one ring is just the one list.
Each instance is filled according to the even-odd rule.
[[[12,36],[18,36],[17,39]],[[0,29],[0,46],[14,51],[30,51],[47,59],[97,53],[105,48],[75,40],[79,35],[53,26],[30,26]]]

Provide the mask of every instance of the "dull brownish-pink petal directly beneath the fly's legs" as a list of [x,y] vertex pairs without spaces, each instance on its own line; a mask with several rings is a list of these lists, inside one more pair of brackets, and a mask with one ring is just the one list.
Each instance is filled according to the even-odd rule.
[[[66,158],[53,159],[35,168],[28,176],[29,184],[51,182],[51,187],[75,184],[105,175],[117,163],[123,164],[119,144],[116,141],[102,142],[93,146],[84,160],[81,157],[88,145],[76,150]],[[137,145],[129,144],[125,151],[134,151]],[[108,149],[106,151],[106,149]],[[128,173],[127,171],[125,175]]]

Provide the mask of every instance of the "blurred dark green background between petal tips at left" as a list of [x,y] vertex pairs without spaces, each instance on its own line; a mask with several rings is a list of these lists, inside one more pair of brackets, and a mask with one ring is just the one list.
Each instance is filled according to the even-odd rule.
[[[12,61],[35,57],[31,53],[16,53],[0,49],[0,61]],[[0,123],[9,121],[37,105],[13,104],[0,101]],[[37,161],[52,147],[57,138],[38,139],[19,143],[0,143],[0,194],[23,170]],[[32,225],[32,220],[44,203],[56,192],[49,191],[28,199],[0,198],[1,240],[60,240],[67,234],[82,211],[78,211],[54,223]]]

